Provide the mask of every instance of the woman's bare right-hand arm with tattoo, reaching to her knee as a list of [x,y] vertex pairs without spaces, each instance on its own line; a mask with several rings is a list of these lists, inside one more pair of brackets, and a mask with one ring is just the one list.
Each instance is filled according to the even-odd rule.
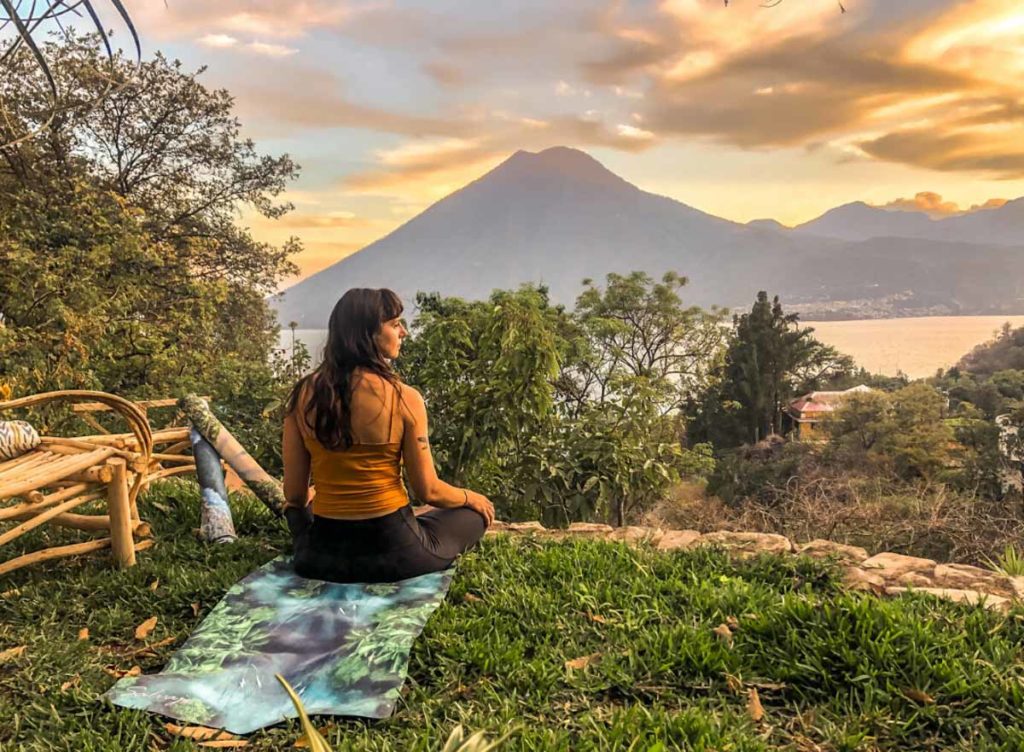
[[434,459],[430,453],[430,442],[427,438],[427,406],[423,402],[423,396],[406,384],[401,386],[401,396],[404,403],[401,453],[416,498],[445,509],[470,506],[483,514],[489,525],[495,511],[485,496],[469,489],[457,488],[437,477]]

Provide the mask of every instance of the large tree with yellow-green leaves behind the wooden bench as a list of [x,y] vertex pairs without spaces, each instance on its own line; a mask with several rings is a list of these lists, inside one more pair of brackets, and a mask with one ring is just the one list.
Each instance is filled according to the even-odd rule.
[[[227,93],[180,64],[158,54],[136,72],[118,56],[112,72],[99,55],[89,38],[49,45],[63,114],[46,138],[0,150],[0,381],[208,393],[272,467],[263,411],[302,364],[274,361],[265,297],[298,246],[255,241],[237,211],[287,211],[274,197],[296,168],[258,155]],[[45,110],[39,75],[15,57],[0,81],[27,127]],[[124,85],[96,105],[112,76]]]

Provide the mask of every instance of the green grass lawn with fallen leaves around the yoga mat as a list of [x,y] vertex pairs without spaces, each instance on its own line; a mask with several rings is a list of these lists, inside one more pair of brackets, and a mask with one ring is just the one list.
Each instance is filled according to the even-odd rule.
[[[0,578],[0,653],[26,645],[0,662],[0,749],[199,749],[97,698],[108,670],[157,671],[233,582],[285,550],[283,526],[236,502],[233,545],[197,540],[198,494],[174,483],[143,500],[159,544],[137,567],[89,556]],[[151,616],[147,640],[173,641],[133,654]],[[714,631],[725,622],[738,622],[727,639]],[[503,750],[1018,750],[1022,644],[1024,611],[848,593],[809,559],[500,536],[460,563],[391,718],[313,720],[339,751],[436,751],[460,724],[514,729]],[[247,749],[301,733],[292,721]]]

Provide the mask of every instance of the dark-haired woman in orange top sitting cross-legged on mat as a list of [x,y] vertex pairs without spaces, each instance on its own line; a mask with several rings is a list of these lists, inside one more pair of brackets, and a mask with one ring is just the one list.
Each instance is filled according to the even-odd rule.
[[[285,514],[302,577],[394,582],[437,572],[495,517],[485,496],[437,477],[423,398],[390,366],[409,334],[401,311],[390,290],[346,292],[331,314],[324,362],[289,398]],[[402,462],[417,498],[436,509],[413,513]]]

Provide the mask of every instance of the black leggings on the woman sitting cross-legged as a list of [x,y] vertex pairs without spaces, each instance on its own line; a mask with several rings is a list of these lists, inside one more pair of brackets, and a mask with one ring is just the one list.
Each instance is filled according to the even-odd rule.
[[447,569],[483,537],[483,515],[469,507],[416,516],[406,505],[370,519],[314,515],[289,507],[295,573],[331,582],[396,582]]

